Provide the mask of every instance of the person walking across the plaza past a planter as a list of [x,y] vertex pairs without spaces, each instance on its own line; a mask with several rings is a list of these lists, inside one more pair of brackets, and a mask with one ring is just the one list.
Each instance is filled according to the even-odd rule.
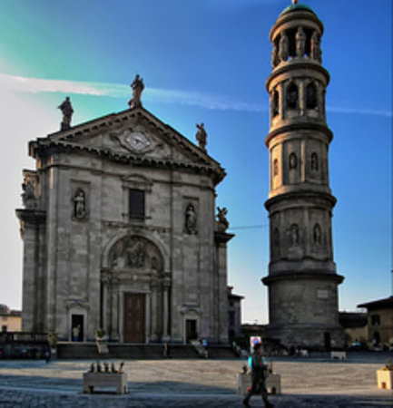
[[243,400],[244,406],[250,406],[249,401],[253,393],[260,393],[262,401],[266,408],[272,408],[274,405],[268,401],[268,390],[266,389],[265,380],[268,374],[268,367],[263,363],[262,359],[263,345],[257,343],[254,345],[254,354],[251,359],[251,378],[252,384],[250,391],[246,394]]

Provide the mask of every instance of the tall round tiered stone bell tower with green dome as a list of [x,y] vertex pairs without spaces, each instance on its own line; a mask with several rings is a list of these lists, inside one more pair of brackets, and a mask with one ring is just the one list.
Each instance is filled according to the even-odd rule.
[[338,285],[333,261],[329,143],[321,65],[323,24],[297,2],[270,30],[270,324],[266,336],[283,345],[339,347]]

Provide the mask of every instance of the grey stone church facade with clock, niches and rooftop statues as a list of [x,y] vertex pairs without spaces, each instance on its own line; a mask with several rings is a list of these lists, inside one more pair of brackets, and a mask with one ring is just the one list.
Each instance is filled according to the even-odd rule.
[[25,208],[16,209],[23,330],[226,343],[233,236],[226,210],[215,211],[225,171],[207,154],[204,129],[193,144],[133,91],[130,109],[74,127],[61,105],[62,130],[29,143],[36,170],[24,170]]

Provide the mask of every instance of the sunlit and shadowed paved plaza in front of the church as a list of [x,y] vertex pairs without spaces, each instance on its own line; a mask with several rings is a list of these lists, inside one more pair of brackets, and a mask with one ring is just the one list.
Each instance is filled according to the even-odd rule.
[[[393,394],[378,390],[376,370],[393,354],[353,353],[270,359],[281,374],[276,407],[391,407]],[[114,361],[116,366],[120,361]],[[129,393],[82,393],[90,360],[0,360],[0,407],[240,407],[237,374],[244,360],[128,360]],[[262,406],[259,396],[251,406]]]

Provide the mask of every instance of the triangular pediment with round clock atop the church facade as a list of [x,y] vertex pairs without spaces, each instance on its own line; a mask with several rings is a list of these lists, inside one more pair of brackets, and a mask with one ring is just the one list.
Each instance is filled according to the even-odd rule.
[[50,145],[103,154],[110,160],[203,166],[210,168],[220,180],[225,176],[220,163],[142,107],[103,116],[32,141],[31,154]]

